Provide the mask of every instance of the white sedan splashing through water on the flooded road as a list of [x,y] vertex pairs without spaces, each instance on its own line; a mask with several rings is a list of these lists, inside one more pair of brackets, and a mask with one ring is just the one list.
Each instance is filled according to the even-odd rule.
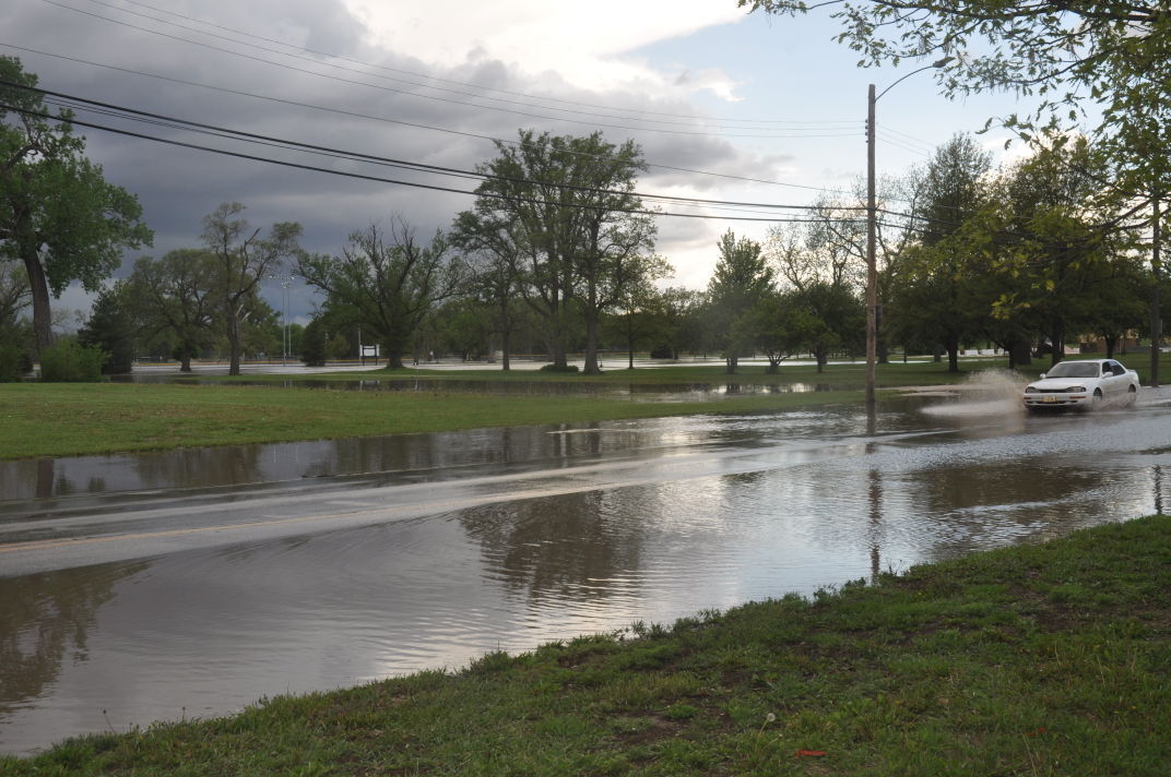
[[1134,405],[1138,373],[1114,359],[1059,362],[1041,379],[1025,386],[1026,410]]

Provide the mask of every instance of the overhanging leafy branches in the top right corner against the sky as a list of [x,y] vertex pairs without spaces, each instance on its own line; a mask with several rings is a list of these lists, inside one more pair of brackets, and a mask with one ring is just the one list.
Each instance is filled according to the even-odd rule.
[[1150,143],[1153,128],[1164,128],[1165,133],[1171,126],[1171,23],[1163,2],[875,0],[810,6],[801,0],[738,0],[738,5],[789,15],[835,6],[830,16],[842,26],[837,40],[858,51],[861,66],[947,55],[951,60],[937,69],[937,80],[949,97],[1005,89],[1038,95],[1042,102],[1033,117],[1005,117],[1026,137],[1041,126],[1076,122],[1082,101],[1093,101],[1102,109],[1100,137],[1114,137],[1136,164],[1166,167],[1157,158],[1165,154],[1142,147]]

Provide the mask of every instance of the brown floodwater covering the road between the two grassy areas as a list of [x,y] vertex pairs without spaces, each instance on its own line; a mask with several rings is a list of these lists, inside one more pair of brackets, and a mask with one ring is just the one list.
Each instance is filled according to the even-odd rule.
[[986,387],[0,462],[0,751],[1171,510],[1171,406]]

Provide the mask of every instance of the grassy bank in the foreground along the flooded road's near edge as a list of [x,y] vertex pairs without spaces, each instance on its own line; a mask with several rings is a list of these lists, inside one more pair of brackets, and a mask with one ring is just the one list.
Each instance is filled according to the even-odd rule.
[[23,775],[1165,775],[1171,517],[637,639],[73,740]]

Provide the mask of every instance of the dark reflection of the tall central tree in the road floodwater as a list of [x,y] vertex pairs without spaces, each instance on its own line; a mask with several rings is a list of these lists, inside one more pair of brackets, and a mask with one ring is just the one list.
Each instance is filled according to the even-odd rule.
[[533,598],[594,599],[639,569],[644,523],[629,516],[650,516],[631,504],[637,490],[492,504],[465,511],[460,523],[509,590],[527,590]]

